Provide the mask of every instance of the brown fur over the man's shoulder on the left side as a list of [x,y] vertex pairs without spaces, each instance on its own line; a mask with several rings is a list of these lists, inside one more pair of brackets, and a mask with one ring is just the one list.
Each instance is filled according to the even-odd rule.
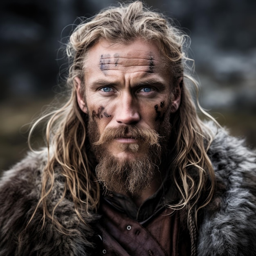
[[[88,225],[79,221],[70,196],[58,204],[65,186],[59,167],[54,169],[55,182],[48,195],[47,208],[52,212],[56,207],[56,220],[72,235],[60,232],[51,218],[46,218],[42,226],[43,208],[42,204],[38,206],[38,202],[47,161],[47,149],[38,153],[29,152],[3,173],[0,180],[0,255],[30,255],[31,252],[40,255],[88,255],[93,235],[89,223],[94,218],[83,213]],[[18,252],[18,244],[21,253]]]

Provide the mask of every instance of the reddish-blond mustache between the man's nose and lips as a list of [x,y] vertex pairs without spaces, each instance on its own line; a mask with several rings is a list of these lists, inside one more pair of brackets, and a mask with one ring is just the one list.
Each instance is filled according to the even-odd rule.
[[143,143],[153,146],[156,144],[159,145],[160,135],[151,128],[141,128],[134,125],[119,126],[117,128],[109,127],[109,128],[106,128],[106,130],[104,130],[101,133],[99,140],[95,141],[93,144],[99,146],[101,144],[108,143],[108,141],[111,141],[113,139],[124,138],[124,137],[138,139]]

